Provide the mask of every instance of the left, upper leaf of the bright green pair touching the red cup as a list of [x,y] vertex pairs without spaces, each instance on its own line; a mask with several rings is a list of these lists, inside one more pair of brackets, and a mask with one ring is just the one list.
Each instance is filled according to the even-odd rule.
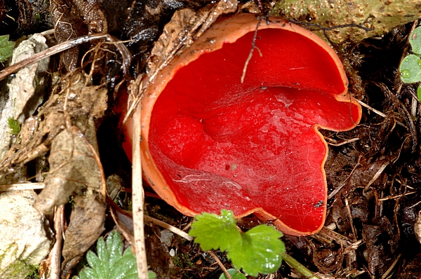
[[199,243],[203,251],[227,250],[240,239],[241,233],[236,228],[232,211],[222,210],[220,216],[205,212],[195,219],[189,235],[195,237],[194,242]]

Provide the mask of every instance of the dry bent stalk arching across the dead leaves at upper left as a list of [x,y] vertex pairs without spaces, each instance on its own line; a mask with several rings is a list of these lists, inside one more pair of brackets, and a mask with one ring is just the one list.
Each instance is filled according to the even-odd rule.
[[72,41],[65,41],[63,43],[59,43],[58,45],[55,45],[51,48],[47,48],[44,51],[41,51],[41,53],[36,53],[32,55],[31,57],[22,60],[20,62],[17,62],[6,69],[0,71],[0,81],[9,74],[13,74],[15,72],[18,72],[20,69],[27,67],[30,64],[33,64],[35,62],[38,62],[39,60],[42,60],[48,56],[55,55],[57,53],[61,53],[64,50],[68,50],[70,48],[73,48],[74,46],[79,46],[81,43],[87,43],[88,41],[94,41],[98,39],[106,39],[107,41],[110,41],[112,43],[115,43],[116,48],[121,53],[121,56],[123,57],[123,72],[126,76],[126,79],[130,77],[128,68],[130,67],[131,63],[131,53],[126,48],[126,46],[121,43],[118,39],[116,39],[114,36],[111,36],[109,34],[93,34],[88,36],[81,36],[79,38],[76,38]]

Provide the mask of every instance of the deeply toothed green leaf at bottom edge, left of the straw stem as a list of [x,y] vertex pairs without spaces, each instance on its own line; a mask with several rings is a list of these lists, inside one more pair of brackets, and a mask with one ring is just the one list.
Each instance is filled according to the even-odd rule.
[[[92,251],[86,254],[90,267],[83,268],[73,279],[138,279],[135,255],[131,247],[123,252],[123,242],[117,231],[109,233],[107,243],[102,237],[98,239],[97,254]],[[152,271],[148,276],[149,279],[156,278]]]

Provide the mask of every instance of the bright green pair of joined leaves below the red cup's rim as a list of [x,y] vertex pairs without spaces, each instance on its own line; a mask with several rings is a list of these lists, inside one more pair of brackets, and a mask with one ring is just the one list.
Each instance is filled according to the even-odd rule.
[[222,210],[219,216],[197,215],[189,235],[195,237],[194,241],[203,251],[226,250],[232,265],[252,276],[277,271],[282,262],[281,254],[285,252],[285,245],[279,239],[283,236],[280,231],[259,225],[242,233],[236,227],[234,213],[228,210]]

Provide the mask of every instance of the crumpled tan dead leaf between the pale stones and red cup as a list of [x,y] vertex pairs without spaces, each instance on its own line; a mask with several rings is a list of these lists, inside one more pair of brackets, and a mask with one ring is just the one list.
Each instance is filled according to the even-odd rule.
[[85,86],[83,73],[75,74],[67,82],[63,92],[66,128],[51,141],[50,172],[34,204],[44,214],[51,213],[55,205],[67,203],[73,192],[82,195],[93,189],[105,196],[94,118],[101,117],[107,108],[107,90]]

